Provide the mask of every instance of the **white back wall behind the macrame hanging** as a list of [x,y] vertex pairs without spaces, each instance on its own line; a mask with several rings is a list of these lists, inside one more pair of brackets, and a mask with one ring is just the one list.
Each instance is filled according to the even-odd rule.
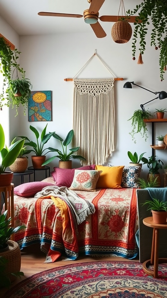
[[[74,86],[73,82],[65,82],[64,78],[74,77],[94,54],[94,50],[97,49],[97,54],[109,67],[111,72],[116,77],[124,78],[123,81],[115,81],[114,83],[116,105],[115,152],[108,158],[107,163],[128,165],[128,150],[132,153],[136,151],[138,155],[146,152],[144,156],[147,158],[152,155],[152,149],[150,147],[152,139],[151,124],[149,123],[147,125],[149,136],[147,141],[145,142],[144,138],[140,134],[137,134],[136,144],[134,144],[129,135],[131,122],[127,120],[133,115],[135,110],[140,108],[141,103],[144,104],[157,96],[137,86],[133,86],[132,89],[125,89],[123,85],[126,81],[134,81],[136,84],[153,92],[167,91],[167,75],[164,75],[165,80],[161,82],[158,63],[159,52],[150,46],[149,38],[147,38],[146,51],[143,56],[144,64],[138,65],[138,51],[136,60],[132,60],[132,41],[130,40],[126,44],[116,44],[108,32],[107,36],[101,39],[96,38],[92,30],[90,33],[81,34],[21,36],[20,64],[26,70],[26,77],[31,80],[33,85],[32,91],[52,91],[53,120],[48,122],[48,131],[56,131],[62,138],[65,138],[68,131],[73,127]],[[103,63],[94,56],[76,77],[104,78],[112,77],[112,75]],[[166,106],[166,100],[160,101],[157,99],[145,105],[145,108],[149,108],[149,111],[154,112],[155,108],[166,108]],[[46,125],[46,122],[28,122],[28,116],[23,115],[22,109],[20,109],[18,117],[20,119],[19,133],[31,138],[33,136],[29,130],[30,124],[39,129],[39,131],[42,131]],[[10,121],[13,120],[14,118]],[[158,135],[165,135],[167,133],[166,128],[166,123],[157,123],[155,125],[155,139]],[[49,142],[49,146],[60,148],[59,143],[55,139]],[[158,159],[162,159],[166,163],[166,152],[166,150],[156,150],[155,154]],[[48,157],[52,155],[50,154]],[[29,159],[30,165],[31,160]],[[58,159],[54,159],[50,166],[51,170],[53,170],[53,166],[58,166]],[[79,161],[73,162],[73,167],[76,166],[80,166]],[[147,172],[147,166],[143,165],[142,175],[146,175]],[[160,172],[161,174],[163,173],[163,171]]]

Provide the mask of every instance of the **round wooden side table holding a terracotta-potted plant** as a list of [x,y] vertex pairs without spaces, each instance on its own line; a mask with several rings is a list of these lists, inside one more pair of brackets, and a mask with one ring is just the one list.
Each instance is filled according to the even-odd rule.
[[[143,263],[143,271],[146,274],[158,278],[158,264],[167,263],[167,258],[158,258],[159,229],[167,229],[167,222],[166,224],[155,224],[152,216],[150,216],[144,218],[143,223],[153,228],[151,259]],[[149,265],[154,265],[154,270],[148,269]]]

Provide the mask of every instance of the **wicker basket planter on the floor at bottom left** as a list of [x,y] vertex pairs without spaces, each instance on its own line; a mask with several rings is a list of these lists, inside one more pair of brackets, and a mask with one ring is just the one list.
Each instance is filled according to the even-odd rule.
[[0,256],[8,260],[5,274],[10,278],[11,283],[16,279],[11,273],[19,272],[21,268],[21,252],[17,242],[8,240],[9,250],[0,252]]

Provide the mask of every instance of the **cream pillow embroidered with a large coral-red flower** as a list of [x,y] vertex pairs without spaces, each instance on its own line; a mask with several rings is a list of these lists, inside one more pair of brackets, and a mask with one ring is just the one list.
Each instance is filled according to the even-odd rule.
[[102,171],[97,170],[75,170],[72,190],[96,191],[96,183]]

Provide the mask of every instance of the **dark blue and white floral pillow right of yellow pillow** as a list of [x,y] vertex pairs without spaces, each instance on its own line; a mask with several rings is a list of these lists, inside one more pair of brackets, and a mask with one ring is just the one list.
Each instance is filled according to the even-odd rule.
[[[108,167],[112,167],[111,164],[108,164]],[[129,166],[124,167],[122,173],[122,182],[121,187],[123,188],[138,188],[138,184],[135,182],[139,178],[141,172],[140,166]]]

